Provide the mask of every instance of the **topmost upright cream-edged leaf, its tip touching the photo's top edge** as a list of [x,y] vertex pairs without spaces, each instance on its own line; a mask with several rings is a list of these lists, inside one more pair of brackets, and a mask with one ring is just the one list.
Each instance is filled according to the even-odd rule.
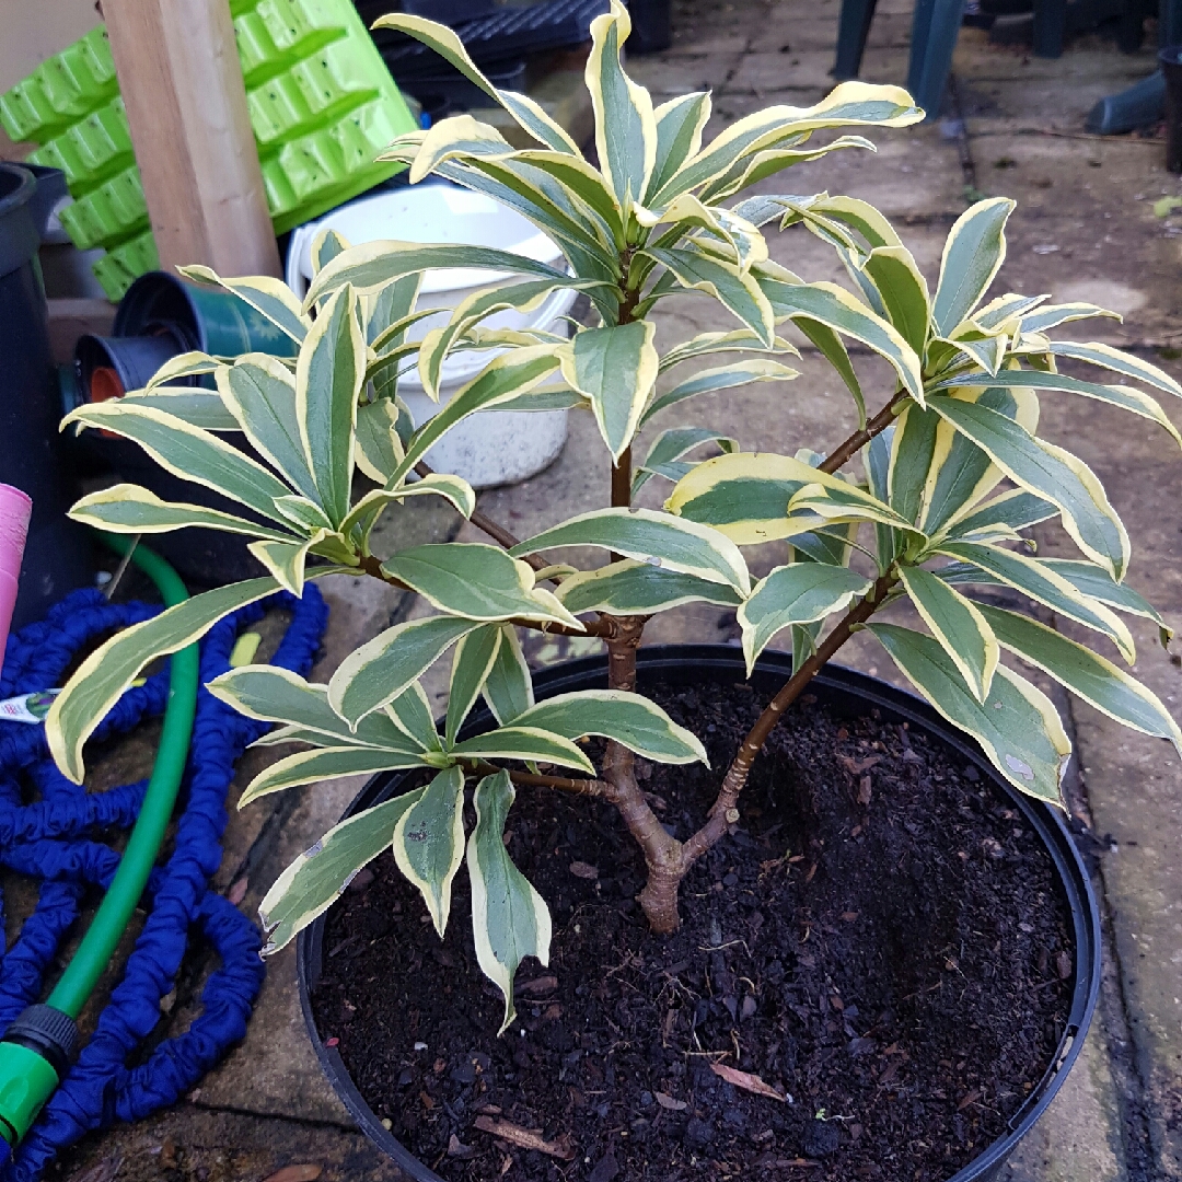
[[591,53],[585,71],[595,109],[599,167],[625,212],[648,189],[657,155],[652,99],[624,73],[619,61],[631,30],[628,9],[612,0],[611,12],[591,21]]

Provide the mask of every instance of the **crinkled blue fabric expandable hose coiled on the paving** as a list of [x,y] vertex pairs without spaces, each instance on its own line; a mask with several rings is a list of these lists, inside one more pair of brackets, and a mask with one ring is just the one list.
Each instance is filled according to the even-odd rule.
[[[268,606],[280,605],[292,609],[294,618],[274,663],[307,671],[327,611],[311,586],[301,600],[275,596],[215,625],[201,645],[201,686],[229,667],[238,631],[261,618]],[[142,604],[108,604],[93,591],[74,592],[45,622],[9,637],[0,694],[35,693],[58,683],[82,645],[156,611]],[[96,738],[160,714],[168,678],[157,674],[128,690]],[[148,879],[152,905],[143,933],[93,1037],[0,1171],[4,1182],[33,1182],[61,1148],[91,1129],[115,1119],[139,1119],[175,1102],[245,1034],[264,976],[258,956],[261,939],[238,908],[208,889],[208,881],[221,860],[234,762],[266,729],[199,690],[184,811],[168,863]],[[38,788],[38,803],[22,803],[21,774]],[[85,834],[93,826],[131,824],[144,793],[145,784],[139,782],[87,794],[53,765],[44,728],[0,723],[0,863],[43,879],[33,915],[0,962],[0,1028],[37,1002],[41,979],[77,917],[86,886],[106,889],[116,876],[119,856]],[[161,1043],[147,1061],[129,1069],[129,1057],[160,1021],[161,998],[174,986],[193,927],[203,931],[222,962],[202,992],[203,1011],[186,1033]]]

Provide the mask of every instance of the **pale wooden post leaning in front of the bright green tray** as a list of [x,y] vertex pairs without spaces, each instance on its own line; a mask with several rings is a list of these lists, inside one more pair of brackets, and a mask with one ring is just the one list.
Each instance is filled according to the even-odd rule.
[[282,274],[228,0],[103,0],[161,266]]

